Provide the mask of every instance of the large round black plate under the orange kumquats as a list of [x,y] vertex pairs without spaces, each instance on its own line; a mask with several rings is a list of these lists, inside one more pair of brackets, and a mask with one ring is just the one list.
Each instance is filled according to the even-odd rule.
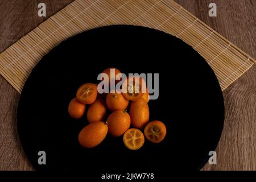
[[[159,98],[150,120],[167,126],[162,143],[148,141],[128,150],[122,137],[107,137],[91,149],[80,147],[86,117],[68,115],[69,101],[105,68],[123,73],[159,73]],[[18,106],[18,133],[36,169],[91,172],[160,172],[200,169],[215,150],[224,125],[224,101],[207,62],[182,40],[139,26],[108,26],[83,32],[53,48],[28,77]],[[46,152],[46,165],[38,152]]]

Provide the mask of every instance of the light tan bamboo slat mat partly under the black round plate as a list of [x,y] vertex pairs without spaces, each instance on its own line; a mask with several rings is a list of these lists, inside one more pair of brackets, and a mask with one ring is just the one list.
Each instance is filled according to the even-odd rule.
[[222,90],[255,63],[174,1],[76,0],[2,52],[0,73],[20,93],[32,69],[53,47],[80,32],[112,24],[155,28],[184,40],[207,60]]

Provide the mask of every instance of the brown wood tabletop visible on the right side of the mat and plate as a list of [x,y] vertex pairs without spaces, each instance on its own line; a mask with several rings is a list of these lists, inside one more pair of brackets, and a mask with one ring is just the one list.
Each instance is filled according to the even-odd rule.
[[[256,2],[177,1],[225,38],[256,57]],[[210,2],[217,5],[217,17],[208,16]],[[217,165],[204,170],[256,170],[256,65],[223,93],[225,126],[217,147]]]

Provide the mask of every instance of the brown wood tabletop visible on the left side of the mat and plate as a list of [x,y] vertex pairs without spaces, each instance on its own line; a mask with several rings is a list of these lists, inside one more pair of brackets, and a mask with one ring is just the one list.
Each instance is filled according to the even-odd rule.
[[[38,3],[47,6],[46,18],[38,16]],[[0,1],[0,52],[49,18],[72,0]],[[19,93],[0,76],[0,170],[31,170],[16,131]]]

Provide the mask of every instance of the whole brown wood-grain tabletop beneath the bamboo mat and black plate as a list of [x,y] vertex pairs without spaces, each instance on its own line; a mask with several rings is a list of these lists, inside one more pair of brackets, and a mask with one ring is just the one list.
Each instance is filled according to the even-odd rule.
[[[38,26],[38,3],[46,3],[47,16],[72,0],[1,0],[0,52]],[[256,57],[256,1],[176,0],[231,42]],[[209,17],[208,5],[217,5],[217,17]],[[256,170],[256,65],[224,91],[225,126],[217,148],[217,165],[205,170]],[[16,109],[19,93],[0,76],[0,170],[31,170],[19,143]]]

